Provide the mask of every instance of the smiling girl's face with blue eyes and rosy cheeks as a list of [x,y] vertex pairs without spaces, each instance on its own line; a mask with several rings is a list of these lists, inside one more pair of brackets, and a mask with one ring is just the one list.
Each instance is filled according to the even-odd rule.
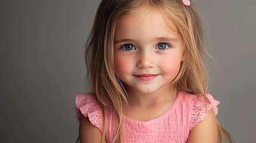
[[158,13],[128,14],[115,32],[115,67],[128,94],[169,90],[184,59],[183,40],[172,21],[166,26]]

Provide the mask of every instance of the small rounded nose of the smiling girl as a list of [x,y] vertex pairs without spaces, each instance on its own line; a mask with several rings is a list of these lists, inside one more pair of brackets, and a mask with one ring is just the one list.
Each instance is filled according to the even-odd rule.
[[138,55],[138,61],[136,66],[140,69],[147,69],[154,66],[153,55],[149,52],[141,52]]

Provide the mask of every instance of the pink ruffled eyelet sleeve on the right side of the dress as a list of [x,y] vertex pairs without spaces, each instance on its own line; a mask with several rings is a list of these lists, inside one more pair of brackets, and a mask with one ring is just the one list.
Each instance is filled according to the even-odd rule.
[[220,104],[220,101],[214,100],[212,95],[206,94],[208,102],[205,102],[202,97],[196,96],[192,100],[192,110],[190,114],[190,129],[192,130],[199,122],[204,120],[207,117],[208,111],[213,110],[215,115],[218,114],[217,105]]

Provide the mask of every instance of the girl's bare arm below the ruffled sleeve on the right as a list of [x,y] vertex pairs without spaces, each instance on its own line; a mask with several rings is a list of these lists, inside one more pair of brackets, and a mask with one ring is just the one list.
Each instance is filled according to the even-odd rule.
[[210,110],[205,120],[198,123],[190,132],[187,143],[216,143],[218,138],[217,119]]

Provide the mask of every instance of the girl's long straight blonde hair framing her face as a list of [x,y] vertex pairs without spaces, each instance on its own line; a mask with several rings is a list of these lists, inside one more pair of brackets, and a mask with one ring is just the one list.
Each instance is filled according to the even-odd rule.
[[[114,36],[118,20],[126,14],[145,9],[156,11],[165,19],[174,22],[184,41],[186,59],[181,63],[180,71],[170,83],[177,90],[201,95],[206,102],[208,75],[205,67],[205,48],[201,19],[195,6],[186,6],[182,0],[103,0],[95,15],[92,32],[87,41],[86,62],[90,75],[92,92],[98,98],[104,111],[104,140],[107,129],[107,108],[116,113],[118,126],[114,142],[122,142],[122,113],[128,105],[128,95],[122,81],[116,76],[114,64]],[[223,132],[231,142],[226,130],[218,125],[220,142]]]

